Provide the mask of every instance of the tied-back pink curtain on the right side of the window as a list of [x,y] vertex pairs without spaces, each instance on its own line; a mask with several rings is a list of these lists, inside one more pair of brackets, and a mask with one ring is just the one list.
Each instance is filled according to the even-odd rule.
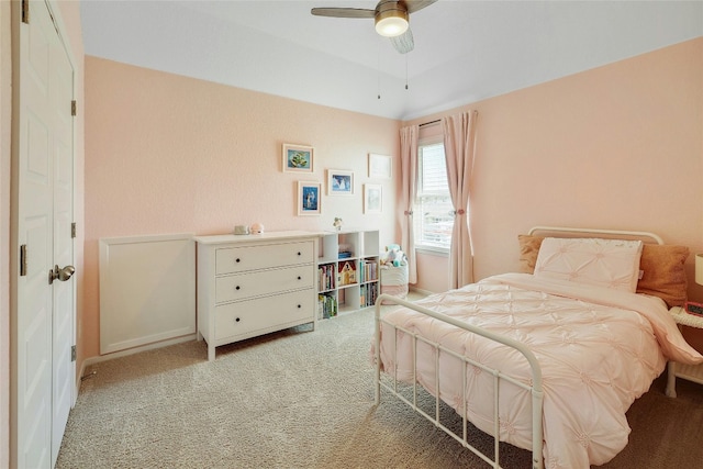
[[450,289],[473,282],[469,193],[473,169],[477,118],[477,111],[469,111],[442,119],[447,179],[455,213],[449,253]]

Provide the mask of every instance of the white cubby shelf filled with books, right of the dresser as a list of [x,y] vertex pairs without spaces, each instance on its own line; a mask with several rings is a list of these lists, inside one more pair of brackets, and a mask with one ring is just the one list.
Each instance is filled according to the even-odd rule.
[[317,256],[317,317],[372,306],[379,294],[379,232],[326,232]]

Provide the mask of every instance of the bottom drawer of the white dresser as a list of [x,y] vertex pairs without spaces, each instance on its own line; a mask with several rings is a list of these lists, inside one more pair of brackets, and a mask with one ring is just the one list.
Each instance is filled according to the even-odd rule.
[[215,339],[252,335],[259,330],[306,319],[312,322],[314,297],[311,290],[301,290],[215,306]]

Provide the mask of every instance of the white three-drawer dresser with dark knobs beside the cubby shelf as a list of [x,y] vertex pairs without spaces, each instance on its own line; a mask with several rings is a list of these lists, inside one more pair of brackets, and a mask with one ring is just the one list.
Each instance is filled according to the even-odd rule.
[[196,236],[198,339],[215,347],[316,319],[319,234]]

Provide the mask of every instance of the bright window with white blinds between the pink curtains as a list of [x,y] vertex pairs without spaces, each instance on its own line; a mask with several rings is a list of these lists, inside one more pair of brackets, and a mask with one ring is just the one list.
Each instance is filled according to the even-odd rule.
[[449,250],[453,212],[444,143],[421,143],[417,147],[417,197],[413,215],[415,247]]

